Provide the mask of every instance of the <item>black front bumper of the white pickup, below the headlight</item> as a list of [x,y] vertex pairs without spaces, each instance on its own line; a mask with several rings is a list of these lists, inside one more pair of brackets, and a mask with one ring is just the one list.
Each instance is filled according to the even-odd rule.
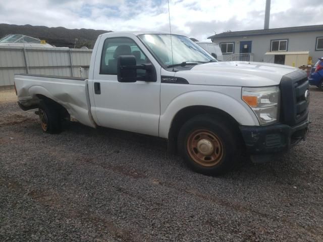
[[270,126],[240,126],[249,154],[270,154],[288,150],[304,140],[308,132],[309,119],[290,127],[284,124]]

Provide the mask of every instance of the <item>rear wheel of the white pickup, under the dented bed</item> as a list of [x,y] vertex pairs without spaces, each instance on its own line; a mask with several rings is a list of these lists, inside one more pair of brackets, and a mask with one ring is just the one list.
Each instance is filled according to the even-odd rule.
[[55,105],[41,101],[39,103],[38,115],[43,132],[48,134],[58,134],[61,132],[62,123],[60,112]]

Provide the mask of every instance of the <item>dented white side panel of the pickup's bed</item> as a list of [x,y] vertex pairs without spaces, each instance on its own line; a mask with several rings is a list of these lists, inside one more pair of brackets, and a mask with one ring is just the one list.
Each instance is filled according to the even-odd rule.
[[90,112],[87,79],[62,76],[16,74],[18,102],[26,109],[36,108],[41,96],[56,101],[78,122],[95,127]]

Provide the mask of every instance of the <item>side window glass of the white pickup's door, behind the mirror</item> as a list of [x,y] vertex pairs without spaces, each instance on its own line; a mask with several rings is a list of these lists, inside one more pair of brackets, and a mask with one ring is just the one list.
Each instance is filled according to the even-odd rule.
[[[104,41],[101,56],[101,75],[117,75],[117,62],[120,55],[134,55],[137,65],[150,63],[138,45],[129,38],[108,38]],[[146,70],[137,70],[144,75]]]

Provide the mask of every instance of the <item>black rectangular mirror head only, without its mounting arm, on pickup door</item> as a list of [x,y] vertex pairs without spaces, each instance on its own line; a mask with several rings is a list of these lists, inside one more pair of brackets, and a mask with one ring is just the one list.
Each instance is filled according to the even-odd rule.
[[117,61],[118,82],[136,82],[137,69],[134,55],[120,55]]

